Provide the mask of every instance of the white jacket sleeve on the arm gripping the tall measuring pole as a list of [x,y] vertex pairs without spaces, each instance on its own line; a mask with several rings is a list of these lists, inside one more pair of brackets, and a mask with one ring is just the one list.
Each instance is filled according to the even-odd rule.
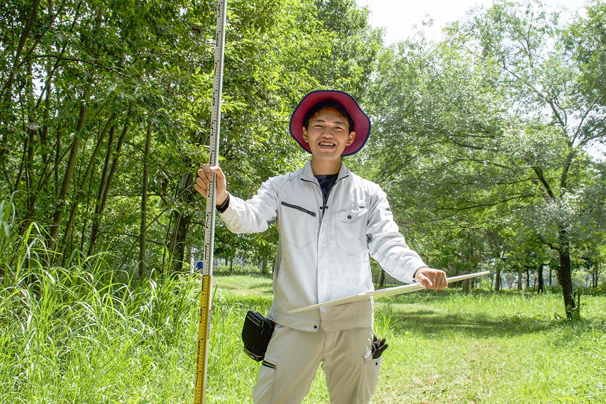
[[261,233],[276,220],[278,202],[271,179],[265,181],[255,196],[244,200],[230,194],[230,202],[219,217],[232,233]]

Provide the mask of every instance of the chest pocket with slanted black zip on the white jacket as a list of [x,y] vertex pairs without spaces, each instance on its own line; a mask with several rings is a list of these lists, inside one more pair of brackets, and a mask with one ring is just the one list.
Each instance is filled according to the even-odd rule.
[[318,213],[295,200],[282,200],[278,210],[280,237],[296,247],[305,247],[316,237]]

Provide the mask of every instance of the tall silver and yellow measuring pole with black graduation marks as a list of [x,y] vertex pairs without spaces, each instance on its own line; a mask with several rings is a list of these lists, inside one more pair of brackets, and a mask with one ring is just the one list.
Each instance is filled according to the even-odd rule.
[[[210,145],[208,163],[219,164],[219,131],[221,130],[221,94],[223,87],[223,57],[225,49],[225,21],[227,0],[217,4],[217,28],[215,34],[215,65],[213,76],[213,98],[210,115]],[[215,248],[215,174],[208,185],[206,220],[204,222],[204,268],[202,268],[202,290],[198,314],[198,359],[196,360],[196,383],[194,404],[204,404],[208,366],[208,339],[210,338],[211,289],[213,285],[213,250]]]

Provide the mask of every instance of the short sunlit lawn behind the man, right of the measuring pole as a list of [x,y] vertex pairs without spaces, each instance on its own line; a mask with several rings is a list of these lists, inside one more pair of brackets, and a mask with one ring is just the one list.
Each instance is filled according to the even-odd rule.
[[[214,329],[230,322],[222,312],[238,328],[247,308],[267,311],[271,302],[269,278],[215,276],[215,284]],[[389,348],[372,402],[606,403],[606,297],[581,303],[583,319],[570,322],[556,293],[451,289],[378,299],[375,331]],[[259,365],[234,348],[228,372],[209,365],[212,402],[251,402]],[[304,403],[329,403],[321,369]]]

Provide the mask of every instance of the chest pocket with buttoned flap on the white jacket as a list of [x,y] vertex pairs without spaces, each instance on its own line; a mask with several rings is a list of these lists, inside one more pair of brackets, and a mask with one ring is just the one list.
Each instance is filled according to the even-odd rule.
[[347,254],[356,254],[367,248],[366,224],[368,209],[357,205],[335,212],[336,245]]

